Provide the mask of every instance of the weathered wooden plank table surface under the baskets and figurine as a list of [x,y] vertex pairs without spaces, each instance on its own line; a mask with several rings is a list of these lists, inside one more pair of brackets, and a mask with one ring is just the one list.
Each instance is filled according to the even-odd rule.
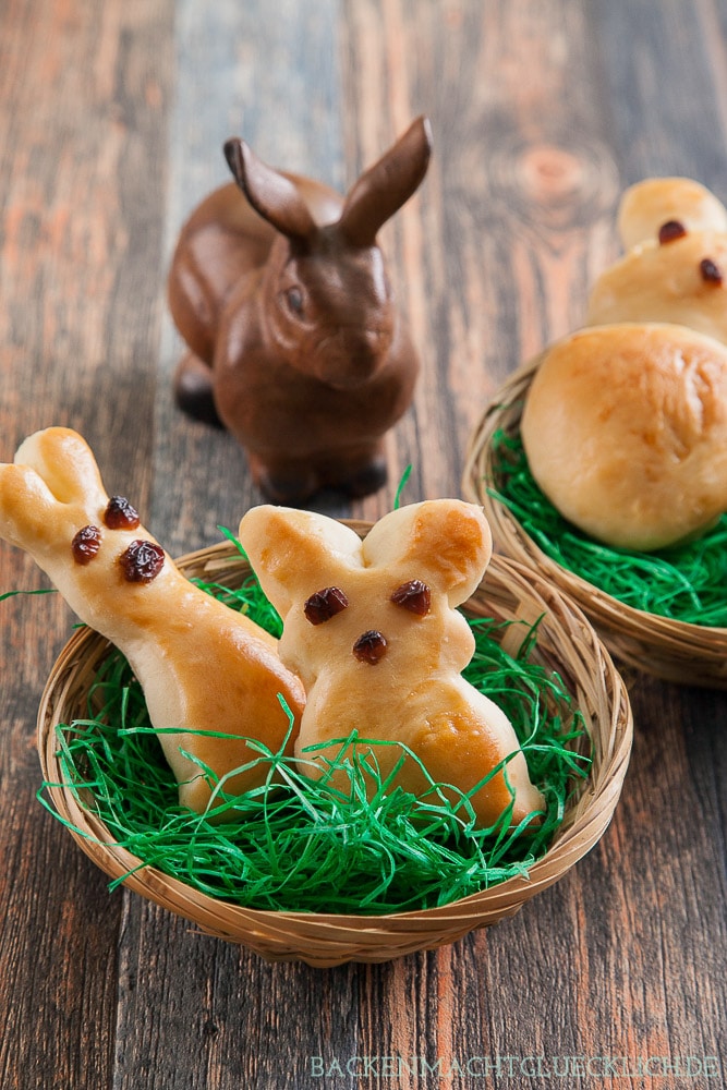
[[[228,180],[228,136],[344,189],[432,120],[428,177],[381,235],[423,373],[388,487],[336,516],[389,510],[408,463],[408,501],[459,494],[488,397],[617,255],[626,184],[727,198],[727,0],[3,0],[0,96],[0,459],[75,427],[173,554],[260,500],[170,388],[171,247]],[[41,585],[0,545],[0,593]],[[58,595],[0,603],[3,1090],[725,1083],[726,693],[630,671],[631,766],[589,857],[453,946],[317,970],[109,894],[38,804],[36,710],[72,623]]]

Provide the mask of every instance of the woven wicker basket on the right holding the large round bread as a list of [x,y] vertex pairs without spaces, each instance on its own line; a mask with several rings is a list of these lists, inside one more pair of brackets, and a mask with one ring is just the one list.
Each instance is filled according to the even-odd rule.
[[464,496],[483,506],[498,548],[570,595],[620,662],[667,681],[727,688],[727,629],[688,625],[625,605],[546,556],[510,510],[489,495],[488,489],[498,486],[493,436],[499,429],[510,435],[519,432],[524,400],[541,359],[538,355],[517,371],[483,413],[468,447]]

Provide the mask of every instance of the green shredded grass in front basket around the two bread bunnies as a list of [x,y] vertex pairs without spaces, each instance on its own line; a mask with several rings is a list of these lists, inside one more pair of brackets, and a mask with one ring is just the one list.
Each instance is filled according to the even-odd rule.
[[[254,577],[235,591],[199,585],[279,633],[279,617]],[[531,658],[536,626],[512,622],[522,626],[523,639],[511,657],[497,640],[501,623],[470,623],[476,651],[465,676],[512,720],[546,800],[540,824],[524,821],[512,828],[506,811],[493,827],[476,829],[468,796],[451,788],[445,795],[431,779],[420,797],[392,788],[393,774],[386,780],[379,774],[376,747],[393,743],[356,747],[355,735],[340,740],[330,762],[331,772],[346,770],[350,790],[334,789],[326,775],[310,778],[304,761],[251,740],[251,760],[266,768],[266,786],[229,798],[218,785],[214,809],[193,814],[179,806],[141,687],[119,652],[99,668],[87,717],[58,727],[63,785],[143,865],[250,908],[410,911],[525,874],[546,852],[569,798],[587,776],[590,742],[559,677]],[[417,760],[401,749],[402,760],[407,753]],[[201,774],[211,775],[202,766]],[[38,797],[59,818],[45,795],[50,786],[44,784]]]

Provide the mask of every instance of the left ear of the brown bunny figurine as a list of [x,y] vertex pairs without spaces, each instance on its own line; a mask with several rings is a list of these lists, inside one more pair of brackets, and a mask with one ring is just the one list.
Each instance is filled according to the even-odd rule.
[[234,180],[258,215],[289,239],[310,239],[316,222],[295,184],[237,136],[225,144]]

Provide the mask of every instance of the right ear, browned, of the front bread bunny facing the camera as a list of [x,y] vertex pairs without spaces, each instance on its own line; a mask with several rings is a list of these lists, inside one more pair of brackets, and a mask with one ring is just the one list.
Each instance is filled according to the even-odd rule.
[[363,545],[364,561],[426,572],[451,606],[474,592],[489,562],[493,538],[478,507],[432,499],[386,514]]

